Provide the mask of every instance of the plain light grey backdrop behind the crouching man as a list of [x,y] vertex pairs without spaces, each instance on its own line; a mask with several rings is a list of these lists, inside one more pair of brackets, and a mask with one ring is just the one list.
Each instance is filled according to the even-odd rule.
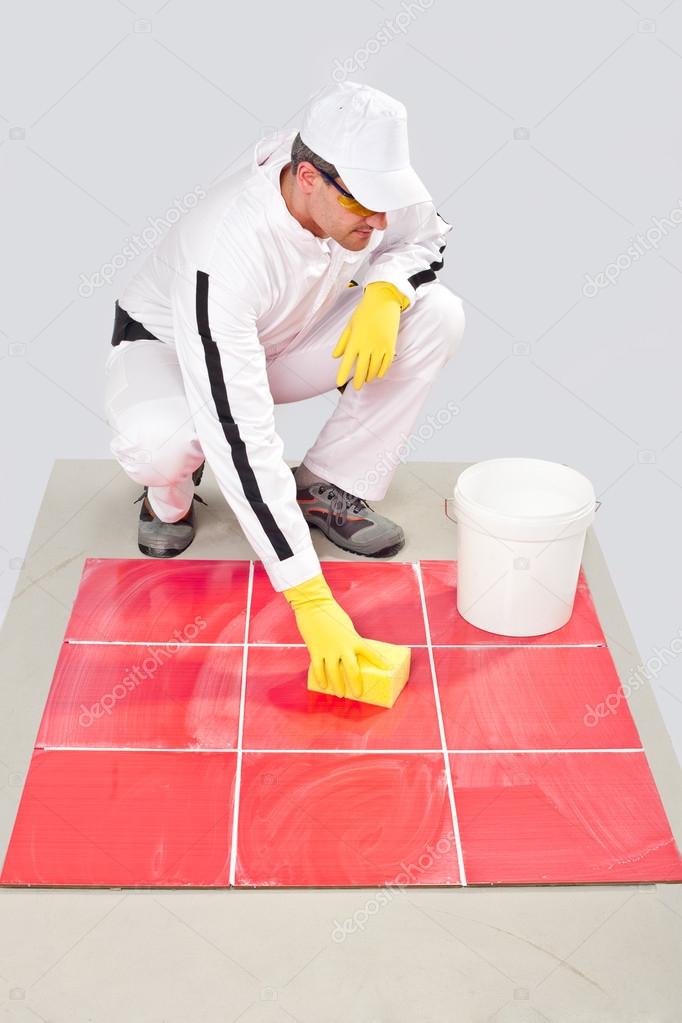
[[[682,0],[71,0],[3,21],[3,614],[53,459],[110,457],[113,301],[148,248],[109,282],[93,275],[348,77],[406,104],[413,165],[453,224],[442,279],[467,328],[419,422],[449,400],[459,411],[412,457],[545,457],[593,481],[679,755]],[[591,295],[586,275],[609,264]],[[277,409],[287,457],[336,397]],[[122,506],[111,529],[136,515]]]

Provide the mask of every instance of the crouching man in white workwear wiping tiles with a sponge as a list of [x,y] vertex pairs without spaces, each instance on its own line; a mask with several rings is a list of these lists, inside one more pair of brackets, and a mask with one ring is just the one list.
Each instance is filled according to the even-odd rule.
[[[261,140],[116,304],[106,409],[111,451],[144,487],[140,550],[191,543],[206,459],[338,695],[360,695],[358,654],[382,661],[333,599],[310,527],[366,557],[405,542],[366,498],[384,496],[376,466],[461,340],[461,301],[437,279],[450,230],[410,166],[404,105],[346,82],[311,98],[299,133]],[[338,404],[292,473],[274,402],[334,385]]]

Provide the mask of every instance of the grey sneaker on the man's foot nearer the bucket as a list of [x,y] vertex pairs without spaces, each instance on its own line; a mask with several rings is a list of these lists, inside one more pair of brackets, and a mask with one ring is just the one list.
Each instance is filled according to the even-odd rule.
[[[295,474],[298,468],[291,472]],[[297,500],[306,522],[321,529],[342,550],[365,558],[391,558],[405,545],[401,526],[333,483],[297,487]]]

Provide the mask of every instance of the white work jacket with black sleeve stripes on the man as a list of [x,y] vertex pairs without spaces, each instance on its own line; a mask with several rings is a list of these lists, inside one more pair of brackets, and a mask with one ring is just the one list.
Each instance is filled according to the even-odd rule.
[[279,186],[295,134],[262,139],[247,166],[171,227],[118,300],[175,346],[207,462],[276,590],[320,564],[275,431],[266,352],[313,326],[351,280],[387,280],[418,302],[452,229],[420,203],[389,212],[360,252],[316,237]]

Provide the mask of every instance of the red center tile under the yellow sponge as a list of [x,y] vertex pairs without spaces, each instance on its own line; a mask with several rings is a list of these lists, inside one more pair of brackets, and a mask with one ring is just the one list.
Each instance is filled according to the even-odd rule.
[[441,749],[424,649],[412,649],[410,677],[390,710],[310,693],[309,664],[305,647],[249,647],[245,748]]

